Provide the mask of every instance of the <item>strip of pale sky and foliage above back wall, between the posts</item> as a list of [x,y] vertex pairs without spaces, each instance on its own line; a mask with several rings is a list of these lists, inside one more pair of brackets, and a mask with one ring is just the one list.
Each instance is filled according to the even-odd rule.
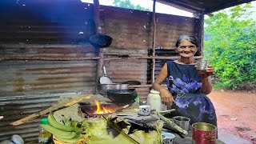
[[[152,4],[153,4],[153,2],[152,2]],[[126,9],[150,11],[150,9],[146,9],[139,5],[134,6],[134,4],[130,2],[130,0],[114,0],[114,3],[112,6],[122,7],[122,8],[126,8]]]

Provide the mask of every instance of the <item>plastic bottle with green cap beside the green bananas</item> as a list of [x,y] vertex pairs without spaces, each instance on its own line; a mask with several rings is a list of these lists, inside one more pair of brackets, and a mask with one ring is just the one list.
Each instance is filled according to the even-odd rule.
[[[47,124],[48,123],[48,119],[47,118],[42,118],[40,120],[40,124]],[[39,126],[39,135],[38,135],[38,142],[39,144],[50,144],[52,143],[52,138],[51,138],[52,134],[50,134],[50,132],[44,130],[41,126]]]

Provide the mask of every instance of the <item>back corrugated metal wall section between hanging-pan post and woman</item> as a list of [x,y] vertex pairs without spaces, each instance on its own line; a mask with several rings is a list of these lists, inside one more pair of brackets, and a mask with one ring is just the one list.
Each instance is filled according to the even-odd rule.
[[[101,11],[102,23],[106,28],[106,34],[114,38],[110,48],[104,50],[104,54],[110,60],[105,61],[110,70],[108,74],[117,81],[139,80],[142,84],[150,84],[152,59],[146,57],[150,54],[153,41],[152,13],[140,10],[125,10],[116,7],[104,7]],[[175,42],[182,34],[198,33],[198,19],[186,18],[168,14],[156,14],[157,34],[156,46],[164,50],[156,50],[157,56],[177,56],[174,52]],[[122,58],[114,60],[113,57]],[[129,58],[144,58],[133,59]],[[127,59],[128,60],[127,60]],[[120,62],[121,61],[121,62]],[[158,59],[155,65],[155,76],[158,76],[166,60]],[[137,65],[138,64],[138,65]],[[122,69],[116,72],[118,65]],[[130,74],[133,75],[130,77]],[[141,74],[141,78],[137,75]],[[139,88],[141,100],[145,101],[150,87]]]

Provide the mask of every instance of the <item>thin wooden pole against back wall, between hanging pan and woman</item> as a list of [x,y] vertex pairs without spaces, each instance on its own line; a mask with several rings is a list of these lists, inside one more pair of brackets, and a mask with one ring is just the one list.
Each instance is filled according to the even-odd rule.
[[[154,0],[153,2],[153,16],[152,16],[152,21],[153,21],[153,42],[152,42],[152,55],[153,57],[155,56],[155,35],[156,35],[156,27],[157,27],[157,24],[156,24],[156,21],[155,21],[155,3],[156,3],[156,0]],[[151,78],[152,78],[152,83],[154,82],[154,67],[155,67],[155,58],[152,59],[152,75],[151,75]]]

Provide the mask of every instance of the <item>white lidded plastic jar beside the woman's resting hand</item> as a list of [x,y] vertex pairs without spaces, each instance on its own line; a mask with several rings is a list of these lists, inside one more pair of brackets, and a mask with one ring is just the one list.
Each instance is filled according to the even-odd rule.
[[151,110],[163,111],[167,110],[166,105],[162,104],[159,91],[150,90],[147,95],[147,104],[150,105]]

